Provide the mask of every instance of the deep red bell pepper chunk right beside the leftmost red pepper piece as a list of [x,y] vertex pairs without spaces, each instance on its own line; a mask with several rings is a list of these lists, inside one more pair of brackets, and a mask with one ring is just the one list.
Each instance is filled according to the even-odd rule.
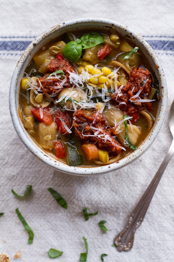
[[60,128],[61,134],[69,134],[69,132],[66,130],[65,125],[70,128],[71,127],[71,122],[70,122],[70,116],[69,114],[65,111],[62,112],[61,109],[57,109],[55,113],[55,123],[57,125],[57,128]]

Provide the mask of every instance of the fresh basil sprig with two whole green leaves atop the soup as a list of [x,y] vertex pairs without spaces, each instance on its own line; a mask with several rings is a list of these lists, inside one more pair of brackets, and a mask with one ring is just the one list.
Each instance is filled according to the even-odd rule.
[[64,57],[71,63],[76,63],[82,54],[82,49],[94,47],[103,43],[103,37],[99,33],[86,33],[77,38],[76,41],[70,41],[64,47]]

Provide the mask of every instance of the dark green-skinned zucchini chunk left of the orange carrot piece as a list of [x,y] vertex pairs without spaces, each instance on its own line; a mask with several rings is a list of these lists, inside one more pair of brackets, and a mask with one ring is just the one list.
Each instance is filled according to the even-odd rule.
[[77,148],[70,143],[66,143],[68,149],[68,166],[77,167],[82,163],[82,156],[77,152]]

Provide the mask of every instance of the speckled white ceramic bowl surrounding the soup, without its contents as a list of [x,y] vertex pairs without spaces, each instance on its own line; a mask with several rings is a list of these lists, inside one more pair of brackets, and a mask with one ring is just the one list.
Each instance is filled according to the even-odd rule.
[[[131,41],[138,45],[138,47],[142,50],[144,55],[148,58],[155,74],[159,78],[160,82],[160,92],[161,92],[161,100],[160,107],[157,112],[157,118],[153,125],[153,128],[148,135],[148,137],[143,141],[143,143],[138,147],[136,151],[129,154],[127,157],[119,160],[118,162],[106,165],[106,166],[98,166],[98,167],[69,167],[68,165],[61,163],[54,158],[50,157],[44,150],[42,150],[37,144],[33,141],[33,139],[26,132],[23,127],[23,123],[21,122],[18,114],[19,107],[19,86],[20,81],[23,76],[24,70],[28,63],[30,62],[32,56],[41,48],[41,46],[50,42],[51,39],[59,37],[61,34],[72,31],[76,29],[107,29],[114,28],[117,32],[122,36],[127,36],[128,39],[131,38]],[[23,142],[23,144],[28,148],[28,150],[38,157],[42,162],[49,165],[50,167],[56,169],[57,171],[61,171],[66,174],[72,174],[77,176],[95,176],[99,174],[105,174],[130,164],[135,161],[138,157],[140,157],[146,150],[153,144],[155,138],[157,137],[160,129],[162,128],[164,117],[166,114],[167,108],[167,85],[166,79],[164,76],[164,72],[162,70],[162,66],[160,61],[157,58],[157,55],[151,48],[151,46],[135,31],[131,30],[127,26],[115,22],[113,20],[103,19],[103,18],[82,18],[77,20],[70,20],[63,23],[60,23],[41,35],[39,35],[32,43],[26,48],[25,52],[22,54],[17,66],[14,70],[11,83],[10,83],[10,91],[9,91],[9,108],[10,115],[12,118],[12,123],[14,125],[14,129],[16,130],[19,138]]]

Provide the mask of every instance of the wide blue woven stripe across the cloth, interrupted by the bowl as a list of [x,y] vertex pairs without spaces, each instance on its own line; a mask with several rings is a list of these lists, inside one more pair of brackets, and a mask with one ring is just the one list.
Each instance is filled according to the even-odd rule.
[[[2,39],[2,38],[1,38]],[[170,40],[147,40],[155,50],[174,51],[174,41]],[[31,41],[0,40],[0,51],[24,51]]]

